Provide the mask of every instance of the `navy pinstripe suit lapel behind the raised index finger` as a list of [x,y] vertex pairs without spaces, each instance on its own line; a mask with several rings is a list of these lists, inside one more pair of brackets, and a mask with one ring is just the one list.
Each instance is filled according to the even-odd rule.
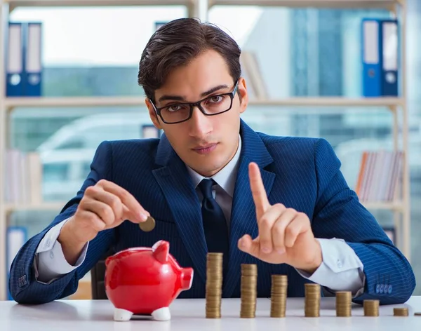
[[262,182],[268,196],[275,179],[274,173],[264,169],[272,163],[272,156],[270,156],[260,136],[246,126],[243,121],[241,121],[241,142],[242,151],[232,202],[229,234],[229,267],[227,280],[224,282],[223,297],[231,297],[232,292],[234,292],[241,278],[241,261],[244,261],[247,257],[247,254],[238,248],[239,238],[245,234],[250,234],[252,238],[258,235],[255,204],[248,179],[248,164],[255,162],[259,165]]

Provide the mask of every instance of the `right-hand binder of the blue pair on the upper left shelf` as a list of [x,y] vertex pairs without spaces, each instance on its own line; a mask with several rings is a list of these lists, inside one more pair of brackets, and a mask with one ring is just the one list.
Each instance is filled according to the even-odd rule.
[[39,97],[42,83],[42,24],[41,22],[28,22],[25,28],[25,95]]

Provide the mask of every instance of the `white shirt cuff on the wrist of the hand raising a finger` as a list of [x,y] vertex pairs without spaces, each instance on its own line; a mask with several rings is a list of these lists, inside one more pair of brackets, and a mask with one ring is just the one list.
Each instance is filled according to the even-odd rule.
[[322,262],[314,273],[297,269],[309,281],[333,291],[351,291],[354,297],[364,290],[366,281],[363,263],[354,250],[342,239],[320,239]]

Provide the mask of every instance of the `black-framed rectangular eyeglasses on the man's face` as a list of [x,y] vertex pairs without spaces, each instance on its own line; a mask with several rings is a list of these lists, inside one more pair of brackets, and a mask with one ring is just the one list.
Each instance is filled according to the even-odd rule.
[[178,104],[170,104],[165,107],[156,108],[154,102],[151,104],[155,109],[156,114],[161,117],[163,123],[175,124],[188,121],[192,118],[194,107],[198,107],[200,111],[206,116],[215,116],[228,112],[232,107],[232,100],[234,100],[235,93],[239,81],[236,82],[234,90],[230,93],[223,93],[218,95],[211,95],[198,102],[185,102]]

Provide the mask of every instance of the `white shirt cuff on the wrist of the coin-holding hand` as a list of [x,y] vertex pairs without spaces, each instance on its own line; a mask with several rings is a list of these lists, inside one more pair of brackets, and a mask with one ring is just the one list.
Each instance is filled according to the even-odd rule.
[[83,250],[76,264],[72,266],[65,258],[61,244],[57,241],[62,226],[67,219],[52,227],[39,243],[34,260],[36,280],[40,283],[51,283],[60,276],[69,273],[80,266],[86,257],[88,244],[83,246]]

